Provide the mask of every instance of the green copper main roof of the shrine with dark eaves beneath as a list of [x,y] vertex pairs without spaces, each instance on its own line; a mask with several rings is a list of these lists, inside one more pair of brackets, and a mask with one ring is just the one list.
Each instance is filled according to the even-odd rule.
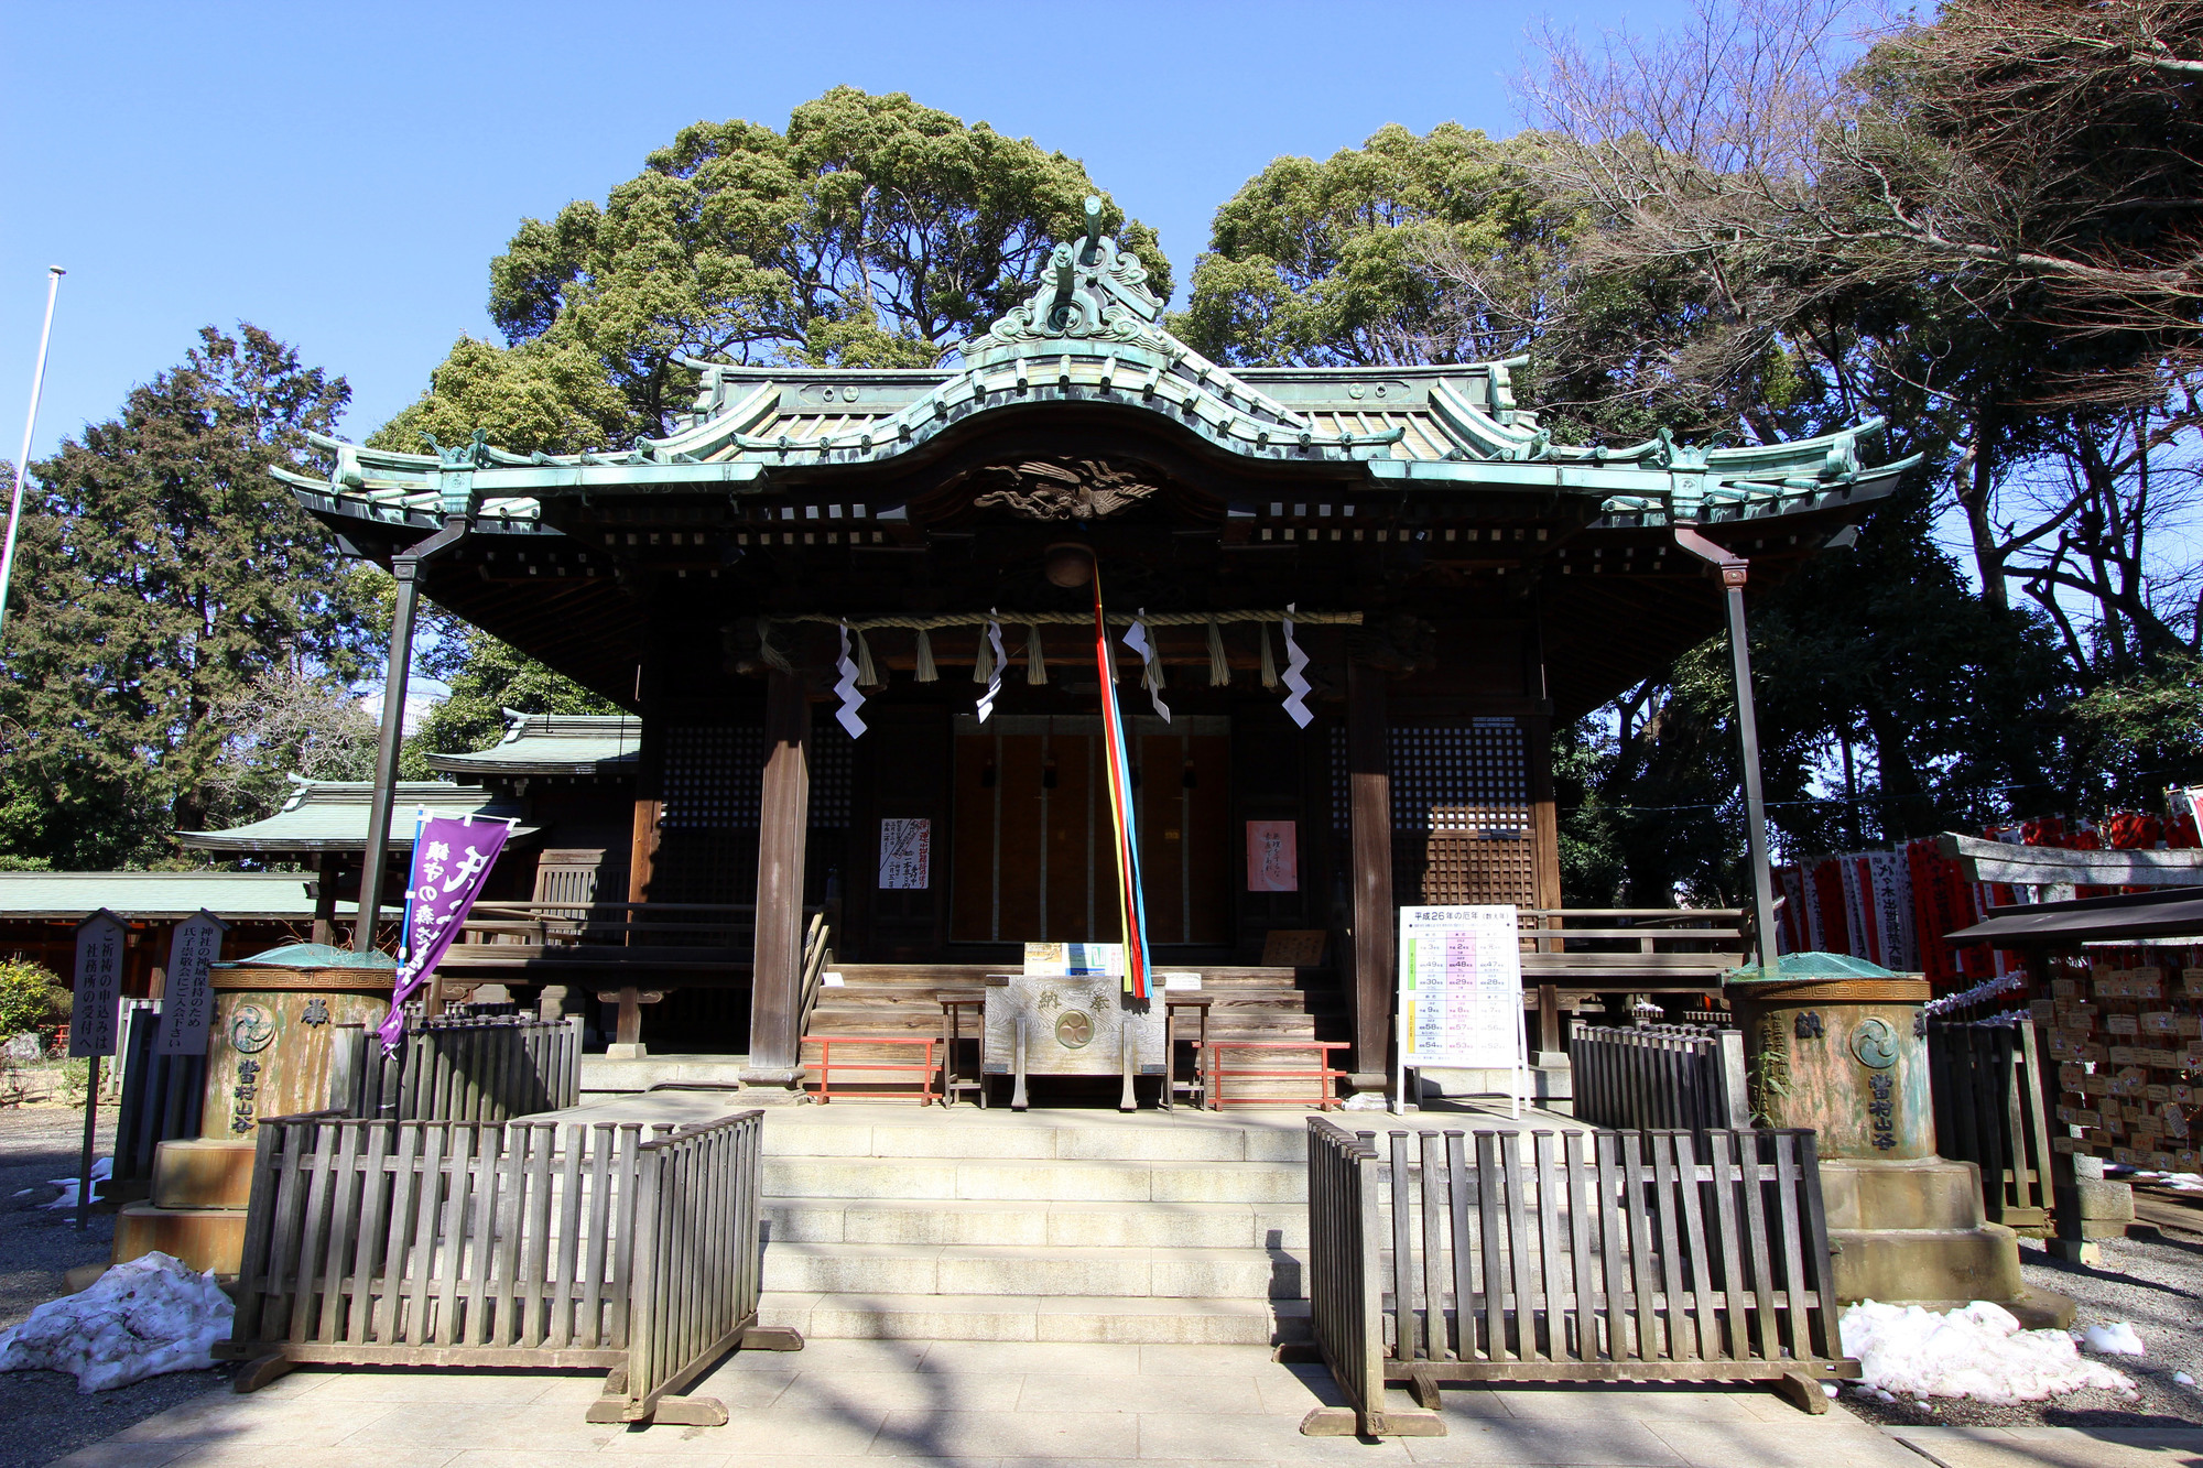
[[[465,520],[423,593],[630,710],[670,628],[756,646],[773,619],[1075,613],[1077,593],[1038,573],[1071,536],[1157,615],[1533,622],[1553,670],[1540,701],[1575,716],[1718,630],[1718,586],[1674,527],[1751,558],[1762,586],[1917,463],[1866,461],[1879,421],[1745,447],[1665,432],[1564,445],[1516,401],[1520,361],[1225,368],[1161,313],[1090,203],[1086,236],[954,366],[685,361],[692,410],[632,450],[513,454],[476,434],[401,454],[317,436],[333,467],[278,476],[381,564]],[[1198,637],[1174,633],[1161,659],[1205,663]],[[626,754],[586,743],[527,727],[436,763],[604,774]]]

